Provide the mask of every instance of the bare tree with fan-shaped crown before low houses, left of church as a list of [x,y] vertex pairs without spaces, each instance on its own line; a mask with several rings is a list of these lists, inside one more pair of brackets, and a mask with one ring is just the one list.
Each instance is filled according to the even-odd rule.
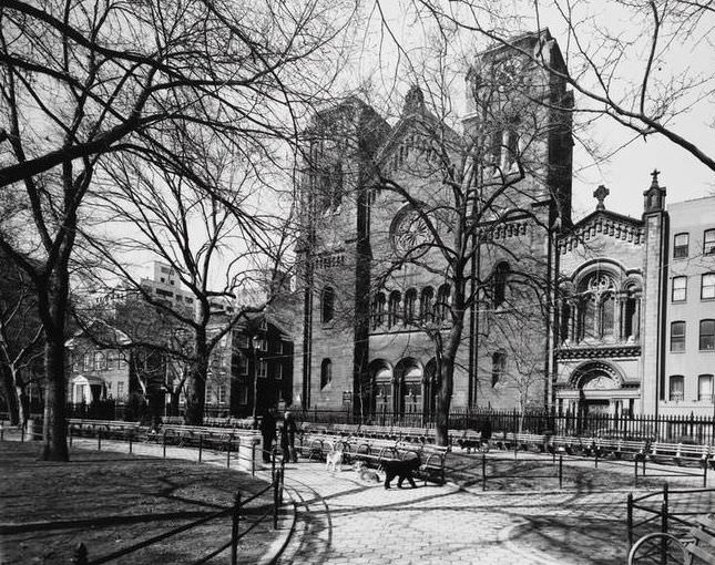
[[[192,163],[188,177],[183,165],[173,172],[163,163],[135,158],[108,162],[114,188],[102,196],[103,214],[112,218],[113,233],[126,235],[113,236],[109,244],[91,238],[111,270],[160,312],[164,326],[190,333],[190,351],[165,339],[172,331],[164,332],[161,343],[171,358],[190,364],[185,381],[190,423],[203,420],[212,351],[248,312],[263,311],[273,300],[270,281],[282,270],[292,243],[285,218],[251,213],[251,197],[262,188],[257,158],[247,166],[234,153],[218,150],[215,141],[202,140],[193,130],[175,132],[174,151]],[[204,189],[206,185],[211,192]],[[143,285],[126,263],[137,253],[150,253],[167,265],[193,297],[191,305],[166,299]],[[262,299],[237,301],[252,291]],[[223,323],[217,325],[216,311],[227,315]],[[135,336],[132,341],[133,347],[159,346],[149,337]]]

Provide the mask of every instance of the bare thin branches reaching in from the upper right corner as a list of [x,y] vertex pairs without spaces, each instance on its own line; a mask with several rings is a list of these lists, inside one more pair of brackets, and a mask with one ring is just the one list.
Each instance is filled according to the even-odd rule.
[[[410,6],[422,21],[429,20],[442,30],[477,33],[509,47],[566,81],[576,93],[576,103],[563,110],[581,113],[588,121],[605,115],[643,138],[663,136],[715,171],[715,154],[678,127],[677,120],[697,111],[702,123],[711,129],[715,124],[709,103],[715,75],[712,65],[701,63],[713,50],[712,2],[612,0],[594,4],[556,0],[548,8],[539,2],[517,4],[514,12],[473,0],[413,0]],[[542,11],[548,11],[549,18]],[[565,30],[560,42],[568,69],[555,66],[547,50],[523,50],[514,42],[524,25],[535,32],[545,21],[555,21]],[[543,38],[544,43],[552,41],[548,32]]]

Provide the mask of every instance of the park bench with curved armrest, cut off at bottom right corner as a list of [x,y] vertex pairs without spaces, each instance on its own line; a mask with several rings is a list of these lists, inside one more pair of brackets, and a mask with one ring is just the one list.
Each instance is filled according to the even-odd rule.
[[[715,563],[715,514],[701,516],[695,526],[691,527],[685,537],[678,538],[670,533],[657,532],[641,537],[629,552],[629,565],[642,562],[641,555],[647,553],[650,557],[657,557],[654,547],[667,547],[665,542],[673,541],[680,547],[685,565]],[[657,552],[657,549],[655,551]],[[660,554],[660,552],[657,552]],[[665,563],[666,555],[662,556]],[[656,563],[652,558],[650,563]]]

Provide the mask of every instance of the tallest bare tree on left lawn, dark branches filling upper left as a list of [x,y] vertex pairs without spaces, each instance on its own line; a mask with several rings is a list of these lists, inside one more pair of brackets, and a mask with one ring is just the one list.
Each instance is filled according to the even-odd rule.
[[165,144],[175,123],[213,132],[236,154],[246,140],[290,138],[304,104],[339,68],[331,45],[341,47],[335,40],[350,10],[335,8],[343,4],[2,3],[0,187],[20,201],[10,220],[27,230],[19,240],[0,236],[0,248],[38,292],[47,343],[44,459],[69,456],[70,265],[78,233],[91,223],[88,194],[103,189],[98,163],[125,153],[191,168]]

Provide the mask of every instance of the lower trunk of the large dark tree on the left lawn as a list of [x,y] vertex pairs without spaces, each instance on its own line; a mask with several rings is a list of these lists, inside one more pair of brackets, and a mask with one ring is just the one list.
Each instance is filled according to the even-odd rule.
[[42,428],[43,461],[69,461],[67,445],[67,382],[64,379],[64,336],[47,332],[44,368],[47,390],[44,394],[44,422]]

